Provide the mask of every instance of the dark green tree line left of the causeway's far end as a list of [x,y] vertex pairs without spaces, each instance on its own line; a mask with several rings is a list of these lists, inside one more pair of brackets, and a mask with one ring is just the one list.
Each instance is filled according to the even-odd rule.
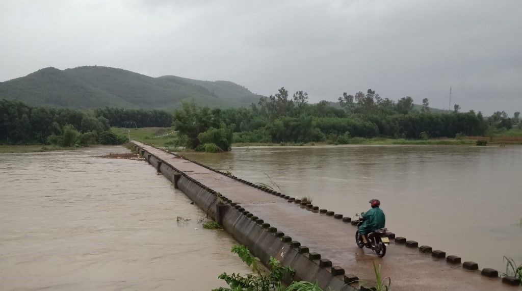
[[19,101],[0,100],[0,144],[121,144],[125,137],[110,131],[135,121],[138,126],[168,127],[171,114],[158,110],[129,110],[105,107],[85,112],[69,108],[28,106]]

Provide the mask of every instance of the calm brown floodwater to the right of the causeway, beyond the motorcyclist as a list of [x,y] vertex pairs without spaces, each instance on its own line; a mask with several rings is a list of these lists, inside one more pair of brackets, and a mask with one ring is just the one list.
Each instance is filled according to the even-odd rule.
[[522,147],[252,147],[185,155],[255,183],[270,184],[266,173],[286,195],[311,196],[345,216],[378,198],[389,231],[419,246],[479,268],[505,271],[503,256],[522,263]]

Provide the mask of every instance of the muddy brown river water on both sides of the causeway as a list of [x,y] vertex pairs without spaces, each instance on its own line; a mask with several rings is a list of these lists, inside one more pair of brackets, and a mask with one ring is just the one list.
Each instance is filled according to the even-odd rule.
[[[249,271],[230,253],[236,242],[203,229],[204,213],[153,167],[94,157],[126,151],[0,154],[0,289],[208,290],[222,272]],[[479,268],[522,262],[522,147],[184,154],[345,216],[381,199],[390,231]]]

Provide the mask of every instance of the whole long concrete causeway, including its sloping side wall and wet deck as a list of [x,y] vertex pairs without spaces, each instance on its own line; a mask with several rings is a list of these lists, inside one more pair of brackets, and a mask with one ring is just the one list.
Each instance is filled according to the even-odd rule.
[[[199,208],[218,221],[263,263],[270,256],[295,269],[294,280],[317,281],[324,290],[375,285],[372,262],[392,278],[394,290],[520,290],[513,277],[479,268],[454,254],[395,237],[386,256],[355,245],[350,217],[263,189],[243,179],[137,141],[136,150]],[[449,251],[449,250],[448,250]],[[487,250],[485,250],[487,251]]]

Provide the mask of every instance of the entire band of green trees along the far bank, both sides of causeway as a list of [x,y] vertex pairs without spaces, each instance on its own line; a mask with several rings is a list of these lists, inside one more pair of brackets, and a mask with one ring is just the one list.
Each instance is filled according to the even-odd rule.
[[[344,93],[339,107],[327,101],[308,103],[303,91],[289,95],[281,88],[275,95],[260,98],[250,107],[201,107],[185,103],[173,114],[160,110],[114,107],[79,111],[67,108],[31,107],[18,101],[0,100],[0,143],[58,143],[63,146],[91,143],[122,143],[110,127],[135,122],[138,127],[174,126],[179,145],[205,150],[230,150],[232,140],[244,143],[305,143],[330,141],[348,143],[355,137],[407,139],[487,136],[492,132],[520,127],[519,113],[508,117],[495,112],[484,118],[480,112],[436,113],[428,99],[413,110],[410,97],[394,101],[381,98],[371,89],[354,95]],[[73,134],[72,131],[75,131]],[[207,144],[207,146],[205,146]]]

